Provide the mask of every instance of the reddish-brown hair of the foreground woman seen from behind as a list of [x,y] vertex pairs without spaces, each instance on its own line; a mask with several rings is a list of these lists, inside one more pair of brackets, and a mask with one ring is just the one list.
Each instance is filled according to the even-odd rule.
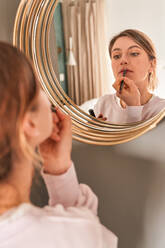
[[0,180],[12,160],[32,157],[22,130],[25,113],[35,111],[39,84],[31,62],[16,47],[0,42]]

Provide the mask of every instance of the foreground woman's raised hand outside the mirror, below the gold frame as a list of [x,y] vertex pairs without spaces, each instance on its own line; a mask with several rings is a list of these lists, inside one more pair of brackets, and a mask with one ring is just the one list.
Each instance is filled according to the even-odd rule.
[[39,149],[44,159],[44,172],[54,175],[65,173],[71,166],[72,125],[69,115],[58,108],[53,115],[53,131]]

